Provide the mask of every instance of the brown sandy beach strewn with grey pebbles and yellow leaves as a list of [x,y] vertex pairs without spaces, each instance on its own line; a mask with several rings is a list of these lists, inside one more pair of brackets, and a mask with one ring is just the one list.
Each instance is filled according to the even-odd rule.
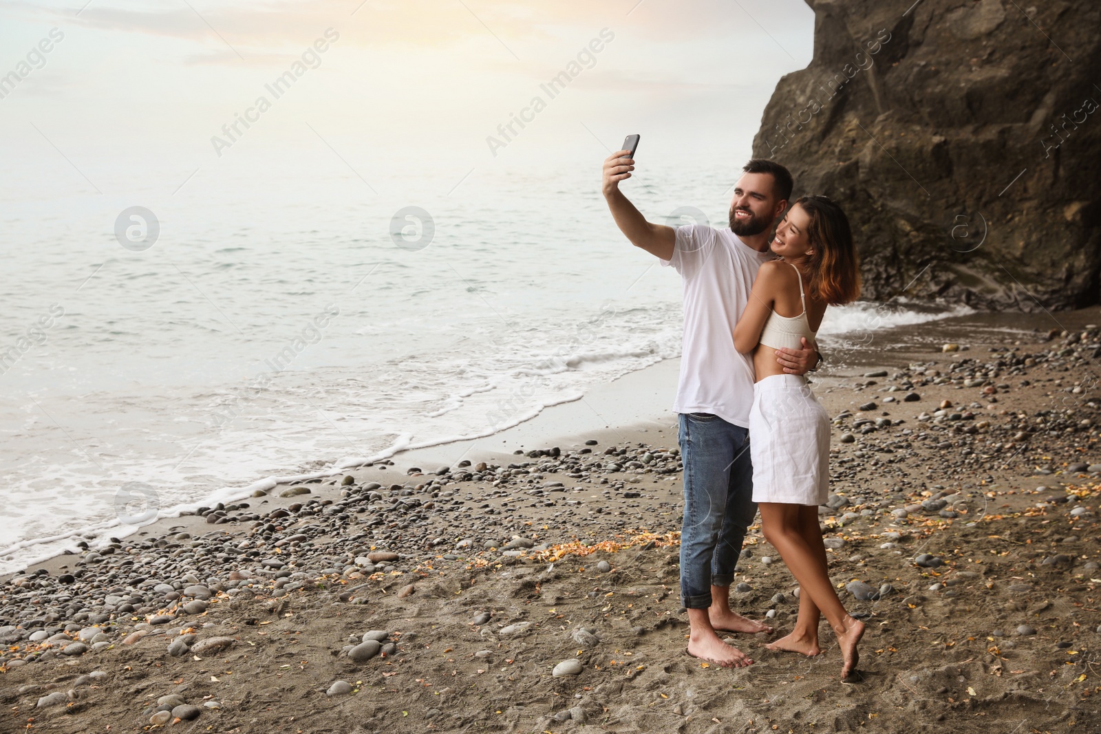
[[826,625],[764,647],[797,598],[759,526],[732,606],[776,632],[729,640],[745,669],[684,654],[666,361],[4,579],[0,730],[1101,731],[1101,311],[1059,319],[815,379],[855,682]]

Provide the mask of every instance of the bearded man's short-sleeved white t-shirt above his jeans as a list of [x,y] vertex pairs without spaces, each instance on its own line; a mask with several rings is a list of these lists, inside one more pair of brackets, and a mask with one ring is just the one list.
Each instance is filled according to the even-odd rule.
[[673,258],[662,260],[684,278],[685,332],[675,412],[712,413],[749,428],[753,362],[734,349],[734,325],[745,310],[757,269],[774,256],[757,252],[729,229],[677,228]]

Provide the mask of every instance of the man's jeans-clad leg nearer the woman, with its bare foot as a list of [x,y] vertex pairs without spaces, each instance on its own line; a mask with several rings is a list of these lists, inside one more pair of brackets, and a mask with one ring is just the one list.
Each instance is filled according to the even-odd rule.
[[749,431],[730,425],[734,437],[734,457],[730,462],[727,481],[727,502],[722,514],[722,525],[711,560],[711,626],[724,632],[772,632],[772,627],[761,622],[748,620],[730,611],[730,584],[734,580],[734,566],[742,552],[745,533],[756,516],[753,502],[753,464],[750,461]]

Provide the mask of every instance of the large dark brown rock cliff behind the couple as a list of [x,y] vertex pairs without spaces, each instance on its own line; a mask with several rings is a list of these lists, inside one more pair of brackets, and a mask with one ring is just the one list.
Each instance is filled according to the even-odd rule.
[[1101,6],[807,0],[753,154],[849,215],[863,296],[1101,300]]

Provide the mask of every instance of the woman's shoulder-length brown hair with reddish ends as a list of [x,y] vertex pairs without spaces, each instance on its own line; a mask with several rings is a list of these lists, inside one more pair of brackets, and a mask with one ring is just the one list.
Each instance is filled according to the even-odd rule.
[[831,306],[860,297],[860,263],[852,243],[849,218],[828,196],[803,196],[792,206],[810,217],[807,237],[815,248],[810,256],[810,293]]

